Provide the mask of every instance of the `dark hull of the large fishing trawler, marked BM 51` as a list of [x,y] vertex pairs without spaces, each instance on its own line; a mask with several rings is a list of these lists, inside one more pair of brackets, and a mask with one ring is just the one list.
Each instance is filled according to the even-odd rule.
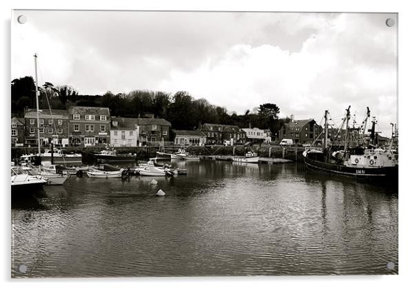
[[388,178],[398,179],[398,166],[394,167],[347,167],[334,163],[325,163],[304,157],[305,165],[314,171],[323,171],[329,174],[351,178]]

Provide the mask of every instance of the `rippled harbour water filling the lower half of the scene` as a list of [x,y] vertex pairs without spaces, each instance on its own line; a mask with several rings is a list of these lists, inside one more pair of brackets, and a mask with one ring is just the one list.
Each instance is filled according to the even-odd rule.
[[188,175],[73,176],[13,197],[12,276],[398,274],[397,187],[298,163],[174,164]]

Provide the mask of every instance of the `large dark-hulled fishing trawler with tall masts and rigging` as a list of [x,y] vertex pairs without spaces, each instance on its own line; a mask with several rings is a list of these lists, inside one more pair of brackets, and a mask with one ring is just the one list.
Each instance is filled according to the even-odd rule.
[[[375,122],[372,123],[371,143],[369,147],[349,147],[350,132],[348,123],[350,120],[350,106],[346,110],[345,118],[341,128],[338,130],[334,139],[338,138],[341,133],[343,125],[345,124],[345,140],[343,150],[332,151],[334,146],[329,147],[327,141],[328,110],[325,110],[324,119],[324,138],[323,147],[307,148],[303,152],[304,162],[307,168],[312,170],[320,170],[329,174],[339,176],[347,176],[353,178],[385,178],[388,180],[398,179],[398,153],[392,149],[394,137],[392,137],[389,147],[382,149],[377,147],[374,143],[374,128]],[[365,132],[367,120],[370,117],[370,110],[367,107],[367,114],[363,121],[362,130]]]

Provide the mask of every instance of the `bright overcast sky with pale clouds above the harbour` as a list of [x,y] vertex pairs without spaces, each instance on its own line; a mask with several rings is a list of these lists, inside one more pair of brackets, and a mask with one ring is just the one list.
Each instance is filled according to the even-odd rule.
[[[17,17],[26,15],[20,24]],[[185,90],[241,114],[276,103],[281,116],[341,121],[366,106],[390,135],[397,122],[396,14],[15,11],[12,79],[80,94]]]

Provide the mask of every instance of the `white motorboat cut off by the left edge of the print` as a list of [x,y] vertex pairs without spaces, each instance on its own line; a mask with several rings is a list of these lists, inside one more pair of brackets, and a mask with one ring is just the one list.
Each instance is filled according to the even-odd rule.
[[46,183],[41,176],[30,175],[21,167],[11,167],[12,192],[32,192],[41,189]]

